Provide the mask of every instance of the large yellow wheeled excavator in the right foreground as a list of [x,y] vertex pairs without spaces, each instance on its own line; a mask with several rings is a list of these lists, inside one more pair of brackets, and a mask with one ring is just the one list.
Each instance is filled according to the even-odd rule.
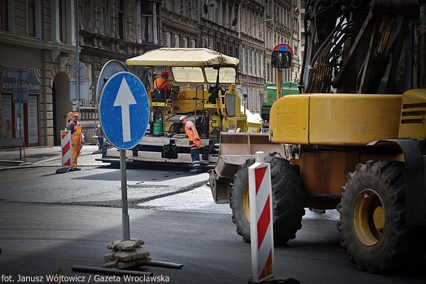
[[[425,10],[417,0],[305,2],[300,93],[272,105],[268,135],[223,133],[209,171],[213,198],[230,203],[244,241],[247,168],[261,150],[275,243],[295,237],[304,208],[337,209],[340,244],[358,269],[424,261]],[[271,62],[279,74],[290,56],[273,51]]]

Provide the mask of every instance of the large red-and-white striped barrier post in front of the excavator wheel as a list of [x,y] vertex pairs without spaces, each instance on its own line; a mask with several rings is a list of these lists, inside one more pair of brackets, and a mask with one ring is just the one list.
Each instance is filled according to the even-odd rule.
[[270,164],[263,162],[263,154],[256,152],[255,163],[248,168],[252,273],[248,283],[300,283],[273,275],[272,186]]

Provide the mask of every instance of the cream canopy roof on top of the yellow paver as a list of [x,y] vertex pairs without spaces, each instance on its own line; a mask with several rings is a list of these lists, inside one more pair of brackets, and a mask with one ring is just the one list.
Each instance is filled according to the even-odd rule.
[[168,48],[149,50],[142,55],[125,60],[127,65],[146,66],[211,66],[237,65],[235,57],[223,55],[208,48]]

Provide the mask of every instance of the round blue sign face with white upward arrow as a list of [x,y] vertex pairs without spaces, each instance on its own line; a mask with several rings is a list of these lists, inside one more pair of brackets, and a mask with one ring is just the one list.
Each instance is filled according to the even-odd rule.
[[134,147],[145,134],[149,119],[146,89],[129,72],[112,75],[103,86],[99,120],[105,137],[119,149]]

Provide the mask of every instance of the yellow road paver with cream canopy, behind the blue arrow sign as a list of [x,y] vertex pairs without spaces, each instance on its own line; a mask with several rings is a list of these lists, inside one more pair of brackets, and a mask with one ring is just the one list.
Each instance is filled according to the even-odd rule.
[[[134,148],[126,150],[127,161],[191,164],[181,115],[194,122],[200,135],[201,165],[214,165],[217,160],[220,132],[261,130],[261,122],[241,106],[237,58],[208,48],[164,47],[129,58],[126,64],[145,70],[150,107],[146,134]],[[161,71],[170,74],[170,93],[152,88],[150,74]],[[105,149],[100,160],[118,162],[119,150]]]

